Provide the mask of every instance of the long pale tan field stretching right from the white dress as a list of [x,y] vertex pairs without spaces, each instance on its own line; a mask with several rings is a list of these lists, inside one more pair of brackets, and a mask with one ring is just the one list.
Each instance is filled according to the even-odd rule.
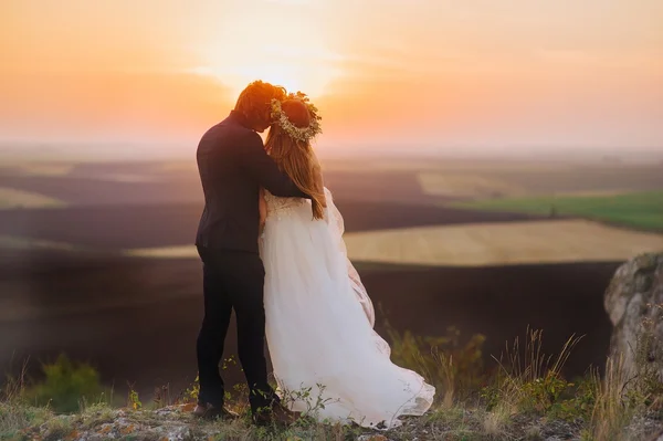
[[663,250],[663,234],[586,220],[421,227],[348,233],[350,259],[430,266],[620,262]]

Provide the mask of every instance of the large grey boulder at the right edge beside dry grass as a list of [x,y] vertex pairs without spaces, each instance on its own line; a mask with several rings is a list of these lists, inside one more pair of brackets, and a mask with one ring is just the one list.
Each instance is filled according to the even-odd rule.
[[603,298],[612,322],[610,355],[631,377],[646,367],[663,379],[663,252],[620,266]]

